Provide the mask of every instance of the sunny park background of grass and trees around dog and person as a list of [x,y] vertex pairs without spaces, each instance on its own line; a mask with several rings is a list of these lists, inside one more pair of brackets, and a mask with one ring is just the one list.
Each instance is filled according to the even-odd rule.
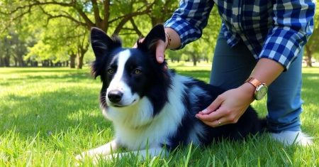
[[[318,1],[318,0],[317,0]],[[112,139],[99,110],[99,78],[90,76],[94,54],[89,30],[118,34],[132,47],[178,6],[174,0],[0,0],[0,166],[73,166],[74,156]],[[318,7],[317,7],[318,9]],[[168,158],[124,158],[107,166],[318,166],[319,14],[303,58],[302,129],[312,147],[284,147],[269,136],[186,146]],[[167,50],[170,68],[208,82],[220,17],[216,7],[198,41]],[[254,102],[260,116],[265,99]],[[85,165],[90,165],[90,162]]]

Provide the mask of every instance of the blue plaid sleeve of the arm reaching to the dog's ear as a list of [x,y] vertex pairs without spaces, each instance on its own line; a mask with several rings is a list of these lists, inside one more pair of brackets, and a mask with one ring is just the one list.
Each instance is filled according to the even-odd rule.
[[201,37],[203,28],[207,25],[209,14],[213,8],[213,0],[182,0],[172,18],[164,23],[165,27],[174,29],[181,38],[181,46],[196,41]]

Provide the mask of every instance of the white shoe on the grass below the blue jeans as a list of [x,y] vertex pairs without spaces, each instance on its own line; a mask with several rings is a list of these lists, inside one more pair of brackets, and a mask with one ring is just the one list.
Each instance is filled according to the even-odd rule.
[[312,137],[309,137],[302,131],[281,131],[279,133],[272,133],[272,138],[276,141],[280,141],[284,146],[290,146],[292,144],[310,146],[313,144]]

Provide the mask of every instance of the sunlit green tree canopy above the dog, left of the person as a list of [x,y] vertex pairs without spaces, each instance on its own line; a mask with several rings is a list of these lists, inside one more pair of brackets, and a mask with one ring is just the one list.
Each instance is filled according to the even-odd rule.
[[[164,22],[178,4],[173,0],[1,0],[0,5],[0,19],[4,22],[1,25],[2,45],[9,47],[13,43],[9,40],[13,34],[11,31],[21,29],[22,21],[25,28],[22,28],[24,32],[16,33],[18,41],[26,42],[23,38],[26,34],[37,41],[25,46],[28,50],[21,53],[25,60],[57,63],[70,58],[72,66],[76,55],[77,68],[82,68],[84,54],[89,50],[88,32],[91,27],[125,36],[129,39],[125,42],[132,42],[133,38],[136,40],[143,36],[155,24]],[[1,55],[1,62],[10,62],[11,54],[12,51],[7,51]]]

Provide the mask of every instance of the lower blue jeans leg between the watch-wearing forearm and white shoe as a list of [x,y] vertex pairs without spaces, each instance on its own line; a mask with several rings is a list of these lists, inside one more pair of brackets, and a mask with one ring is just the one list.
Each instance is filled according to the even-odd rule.
[[289,70],[282,72],[279,77],[269,85],[267,120],[269,130],[274,132],[290,130],[299,131],[301,122],[299,115],[301,105],[301,65],[303,50],[298,58],[291,63]]

